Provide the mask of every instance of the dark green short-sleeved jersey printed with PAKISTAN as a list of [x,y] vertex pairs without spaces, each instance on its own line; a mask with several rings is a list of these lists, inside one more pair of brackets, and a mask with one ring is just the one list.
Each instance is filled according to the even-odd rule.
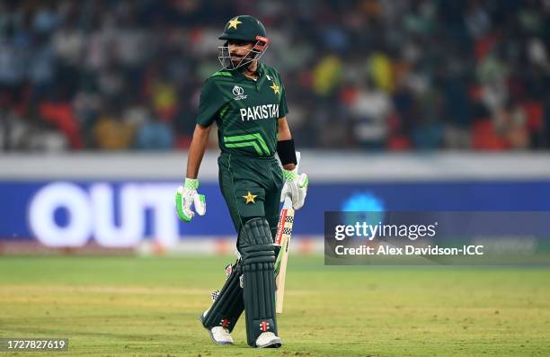
[[217,123],[222,152],[239,156],[273,156],[278,120],[288,113],[285,88],[277,69],[258,64],[258,79],[242,72],[219,71],[209,76],[200,92],[197,123]]

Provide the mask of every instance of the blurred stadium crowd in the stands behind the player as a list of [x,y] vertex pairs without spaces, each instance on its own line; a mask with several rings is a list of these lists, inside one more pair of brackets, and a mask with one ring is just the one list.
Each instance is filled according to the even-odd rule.
[[188,147],[217,35],[244,13],[300,147],[550,147],[548,0],[4,0],[0,147]]

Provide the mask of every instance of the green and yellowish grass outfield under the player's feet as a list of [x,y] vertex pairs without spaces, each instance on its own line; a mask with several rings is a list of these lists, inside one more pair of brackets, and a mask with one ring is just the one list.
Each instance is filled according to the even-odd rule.
[[68,337],[70,352],[55,355],[79,356],[550,355],[550,268],[325,267],[297,256],[282,349],[249,348],[243,317],[236,344],[217,346],[198,317],[232,259],[0,258],[0,337]]

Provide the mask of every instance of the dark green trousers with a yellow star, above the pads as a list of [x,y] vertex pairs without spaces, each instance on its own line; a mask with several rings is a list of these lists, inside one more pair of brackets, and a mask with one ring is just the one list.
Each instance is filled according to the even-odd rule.
[[275,237],[280,191],[284,184],[275,156],[251,157],[222,153],[217,159],[219,187],[238,234],[254,217],[268,220]]

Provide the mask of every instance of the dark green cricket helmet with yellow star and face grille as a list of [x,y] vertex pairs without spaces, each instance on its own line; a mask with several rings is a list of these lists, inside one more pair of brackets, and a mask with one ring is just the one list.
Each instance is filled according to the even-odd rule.
[[[218,39],[226,40],[226,43],[217,48],[219,50],[217,58],[222,65],[222,69],[229,70],[243,67],[260,59],[270,42],[266,37],[262,22],[250,15],[240,15],[229,20]],[[228,42],[231,40],[252,42],[253,48],[248,49],[248,54],[244,57],[232,56],[228,46]]]

